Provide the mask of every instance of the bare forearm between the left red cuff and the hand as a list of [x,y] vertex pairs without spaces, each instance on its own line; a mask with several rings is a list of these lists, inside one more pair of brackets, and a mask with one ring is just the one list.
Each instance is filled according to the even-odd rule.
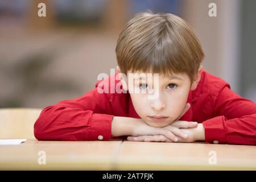
[[133,135],[134,127],[139,119],[129,117],[113,117],[112,136],[120,137],[124,135]]

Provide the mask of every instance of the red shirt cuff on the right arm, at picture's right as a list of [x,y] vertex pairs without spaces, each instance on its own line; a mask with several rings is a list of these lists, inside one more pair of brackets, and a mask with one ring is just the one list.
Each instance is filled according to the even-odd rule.
[[205,142],[227,143],[224,130],[224,116],[218,116],[203,122]]

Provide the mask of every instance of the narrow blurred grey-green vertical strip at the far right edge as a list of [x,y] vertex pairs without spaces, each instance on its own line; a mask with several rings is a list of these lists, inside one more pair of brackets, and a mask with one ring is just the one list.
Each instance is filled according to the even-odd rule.
[[241,86],[242,96],[256,102],[256,1],[242,1]]

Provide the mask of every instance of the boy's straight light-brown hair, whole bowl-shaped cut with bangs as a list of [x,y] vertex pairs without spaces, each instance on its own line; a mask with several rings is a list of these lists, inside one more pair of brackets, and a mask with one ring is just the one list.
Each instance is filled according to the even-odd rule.
[[115,48],[122,73],[196,74],[204,52],[192,27],[174,14],[141,13],[123,28]]

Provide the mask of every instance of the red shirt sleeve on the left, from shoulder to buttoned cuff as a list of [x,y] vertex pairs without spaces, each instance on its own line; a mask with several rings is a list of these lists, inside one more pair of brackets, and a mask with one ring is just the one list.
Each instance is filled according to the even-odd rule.
[[109,140],[113,117],[107,94],[94,88],[82,97],[44,108],[34,135],[38,140]]

